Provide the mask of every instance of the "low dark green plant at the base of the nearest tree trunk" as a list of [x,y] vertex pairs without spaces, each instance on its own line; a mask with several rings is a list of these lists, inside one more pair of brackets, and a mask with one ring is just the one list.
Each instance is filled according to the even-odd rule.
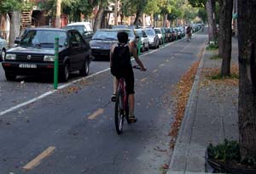
[[213,146],[212,143],[207,147],[207,153],[209,158],[221,161],[240,161],[240,149],[239,143],[236,141],[224,140],[224,143],[220,143]]

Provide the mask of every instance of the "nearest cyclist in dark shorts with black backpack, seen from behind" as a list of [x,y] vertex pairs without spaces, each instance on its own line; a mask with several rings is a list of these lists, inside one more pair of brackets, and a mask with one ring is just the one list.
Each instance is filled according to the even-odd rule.
[[[133,114],[135,92],[134,92],[134,73],[131,65],[131,56],[134,57],[137,64],[140,66],[141,70],[145,71],[146,68],[138,58],[137,50],[129,45],[128,34],[125,31],[120,31],[117,37],[118,37],[119,43],[113,44],[110,50],[110,68],[111,68],[111,73],[113,74],[113,76],[115,76],[113,80],[113,95],[111,97],[111,100],[115,101],[116,99],[115,94],[116,94],[116,89],[118,85],[117,79],[119,79],[120,77],[124,77],[125,84],[126,84],[125,90],[127,92],[128,101],[129,101],[129,120],[131,122],[136,122],[137,118]],[[125,50],[125,51],[119,51],[119,50]],[[123,52],[123,53],[120,53],[120,52]],[[114,59],[124,59],[125,65],[122,66],[121,69],[119,68],[120,66],[118,68],[115,68],[117,65],[113,65]]]

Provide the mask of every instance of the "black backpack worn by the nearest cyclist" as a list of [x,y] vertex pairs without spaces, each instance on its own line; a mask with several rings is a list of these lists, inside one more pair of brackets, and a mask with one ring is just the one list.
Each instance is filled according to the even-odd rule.
[[129,47],[127,45],[123,46],[118,44],[118,46],[113,49],[111,61],[111,74],[113,76],[116,76],[117,78],[124,76],[125,70],[131,66],[131,56]]

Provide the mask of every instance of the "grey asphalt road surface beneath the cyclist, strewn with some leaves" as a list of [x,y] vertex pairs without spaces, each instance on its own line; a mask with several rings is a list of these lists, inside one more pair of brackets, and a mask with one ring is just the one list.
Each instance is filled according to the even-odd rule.
[[141,57],[148,70],[134,70],[138,121],[125,124],[122,135],[114,129],[108,62],[92,63],[90,74],[102,73],[6,114],[3,110],[52,90],[52,84],[1,76],[0,173],[160,173],[172,153],[172,89],[199,59],[206,40],[195,34],[191,42],[173,42]]

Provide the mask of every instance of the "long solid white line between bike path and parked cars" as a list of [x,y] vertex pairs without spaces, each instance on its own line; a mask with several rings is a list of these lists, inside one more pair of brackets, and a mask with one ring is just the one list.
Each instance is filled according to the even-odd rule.
[[[177,42],[180,42],[180,41],[181,41],[181,40],[178,40]],[[155,50],[153,50],[153,51],[150,51],[149,53],[144,53],[143,55],[140,55],[140,57],[144,57],[145,55],[148,55],[148,54],[150,54],[150,53],[157,52],[157,51],[159,51],[160,49],[166,48],[166,47],[168,47],[168,46],[170,46],[170,45],[172,45],[172,44],[174,44],[174,43],[176,43],[176,42],[168,43],[168,44],[166,44],[166,46],[161,47],[161,48],[158,48],[158,49],[155,49]],[[132,59],[132,60],[134,60],[134,59]],[[75,81],[68,82],[67,84],[64,84],[64,85],[61,85],[60,87],[58,87],[58,89],[62,89],[62,88],[64,88],[64,87],[68,87],[68,86],[72,85],[73,83],[76,83],[76,82],[79,82],[79,81],[83,81],[84,79],[88,79],[88,78],[93,77],[93,76],[97,76],[97,75],[102,74],[103,72],[106,72],[106,71],[108,71],[108,70],[110,70],[110,68],[107,68],[107,69],[105,69],[105,70],[101,70],[101,71],[96,72],[95,74],[92,74],[92,75],[90,75],[90,76],[85,76],[85,77],[80,78],[80,79],[77,79],[77,80],[75,80]],[[27,104],[32,104],[33,102],[36,102],[36,101],[38,101],[39,99],[45,98],[45,97],[49,96],[50,94],[55,93],[55,91],[56,91],[56,90],[51,90],[51,91],[49,91],[49,92],[43,93],[42,95],[40,95],[40,96],[38,96],[38,97],[36,97],[36,98],[32,98],[31,100],[28,100],[28,101],[26,101],[26,102],[24,102],[24,103],[17,104],[17,105],[15,105],[15,106],[13,106],[13,107],[11,107],[11,108],[9,108],[9,109],[5,109],[5,110],[3,110],[3,111],[0,112],[0,116],[5,115],[5,114],[7,114],[7,113],[9,113],[9,112],[11,112],[11,111],[14,111],[15,109],[19,109],[20,107],[26,106]]]

